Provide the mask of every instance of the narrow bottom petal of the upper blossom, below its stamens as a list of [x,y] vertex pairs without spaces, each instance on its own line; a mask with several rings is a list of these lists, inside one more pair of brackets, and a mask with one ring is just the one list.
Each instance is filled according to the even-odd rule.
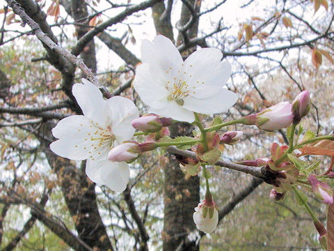
[[188,123],[193,123],[193,121],[195,121],[193,112],[184,109],[180,105],[177,105],[175,101],[168,102],[164,109],[150,108],[150,112],[159,116],[175,119],[176,121],[184,121]]

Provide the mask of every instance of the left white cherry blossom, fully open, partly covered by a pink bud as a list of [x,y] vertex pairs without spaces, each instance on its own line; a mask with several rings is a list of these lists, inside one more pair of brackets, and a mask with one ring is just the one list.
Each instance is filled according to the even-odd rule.
[[72,93],[84,115],[68,116],[52,129],[56,142],[50,149],[70,160],[86,160],[86,174],[95,183],[122,192],[129,181],[126,162],[109,162],[107,155],[113,146],[134,135],[131,121],[138,118],[132,100],[114,96],[104,100],[96,86],[86,79],[74,84]]

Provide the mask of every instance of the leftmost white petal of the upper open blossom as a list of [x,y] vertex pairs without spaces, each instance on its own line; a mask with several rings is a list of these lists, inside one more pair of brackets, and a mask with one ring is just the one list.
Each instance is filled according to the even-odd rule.
[[164,84],[159,83],[164,83],[168,80],[161,79],[160,76],[151,73],[148,63],[137,66],[136,76],[134,77],[134,89],[146,105],[161,109],[167,105],[169,93]]

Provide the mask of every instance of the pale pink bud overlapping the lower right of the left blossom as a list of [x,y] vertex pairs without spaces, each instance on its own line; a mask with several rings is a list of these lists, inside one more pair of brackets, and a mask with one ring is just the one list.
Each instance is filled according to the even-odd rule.
[[111,162],[134,160],[139,153],[141,148],[137,142],[124,142],[109,151],[108,160]]

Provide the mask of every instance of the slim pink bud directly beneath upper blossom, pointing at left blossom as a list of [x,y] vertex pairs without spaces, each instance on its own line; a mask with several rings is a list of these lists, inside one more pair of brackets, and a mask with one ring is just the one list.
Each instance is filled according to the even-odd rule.
[[158,132],[164,126],[170,126],[173,123],[173,119],[170,118],[159,118],[154,114],[148,114],[141,116],[138,119],[132,121],[132,126],[137,130],[143,132]]

